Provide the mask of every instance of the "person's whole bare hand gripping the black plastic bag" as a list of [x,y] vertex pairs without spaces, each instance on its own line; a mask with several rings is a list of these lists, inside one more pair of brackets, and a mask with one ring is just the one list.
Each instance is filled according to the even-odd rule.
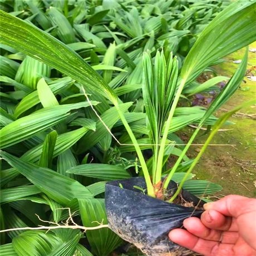
[[256,199],[228,195],[204,205],[201,219],[191,217],[174,229],[174,243],[206,256],[256,255]]

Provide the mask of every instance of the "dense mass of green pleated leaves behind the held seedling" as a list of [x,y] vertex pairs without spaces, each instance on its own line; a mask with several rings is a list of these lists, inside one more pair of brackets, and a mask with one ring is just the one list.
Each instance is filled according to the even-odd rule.
[[[142,53],[149,51],[154,57],[160,50],[167,60],[173,52],[180,70],[200,33],[228,4],[205,0],[16,0],[1,1],[1,9],[56,37],[99,73],[119,96],[120,109],[138,142],[144,144],[141,149],[150,162],[141,92]],[[50,42],[44,43],[42,51],[47,55]],[[5,160],[1,170],[1,229],[51,225],[42,220],[66,221],[68,210],[62,208],[70,208],[76,223],[85,227],[106,224],[106,181],[142,175],[134,146],[115,107],[107,97],[86,88],[111,134],[87,102],[79,81],[40,62],[36,55],[32,58],[11,46],[0,47],[1,156]],[[58,65],[66,68],[67,63],[60,60]],[[196,80],[200,71],[186,83],[169,130],[170,141],[184,144],[175,132],[198,124],[204,116],[204,107],[193,106],[197,93],[218,93],[217,84],[229,80],[216,76],[210,66],[203,71],[208,72],[210,80]],[[216,120],[210,116],[208,128]],[[166,153],[166,174],[171,168],[168,156],[179,156],[183,148],[176,145]],[[184,156],[173,178],[176,182],[192,161]],[[186,181],[184,188],[198,196],[221,189],[199,180]],[[104,256],[122,240],[107,228],[86,234],[72,229],[15,230],[1,233],[1,244],[3,255]]]

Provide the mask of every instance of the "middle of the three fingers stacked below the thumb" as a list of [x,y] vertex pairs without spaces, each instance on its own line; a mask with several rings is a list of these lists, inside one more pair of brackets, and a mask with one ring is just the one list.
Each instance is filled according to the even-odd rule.
[[209,229],[200,219],[192,217],[185,219],[184,227],[196,237],[225,244],[235,244],[238,240],[238,232],[223,232],[221,230]]

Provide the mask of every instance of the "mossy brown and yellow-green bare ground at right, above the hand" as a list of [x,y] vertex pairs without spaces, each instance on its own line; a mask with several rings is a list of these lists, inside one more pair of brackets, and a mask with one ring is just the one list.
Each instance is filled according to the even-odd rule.
[[[250,49],[256,48],[256,42],[250,45]],[[238,67],[235,60],[243,58],[245,49],[229,55],[224,63],[215,66],[219,75],[232,76]],[[256,66],[256,53],[249,52],[248,69]],[[255,74],[255,73],[254,73]],[[244,78],[246,83],[242,83],[232,98],[221,107],[217,115],[224,114],[225,110],[232,110],[243,102],[255,100],[256,82]],[[219,131],[212,144],[227,144],[227,146],[209,146],[201,158],[193,173],[202,180],[213,181],[223,186],[221,195],[238,194],[256,197],[256,105],[247,106],[234,115],[230,121],[235,125],[223,127],[232,129],[229,131]],[[243,114],[248,114],[249,118]],[[194,129],[186,129],[185,135],[190,136]],[[201,132],[203,134],[204,131]],[[207,135],[199,136],[196,139],[198,144],[204,143]],[[235,146],[230,146],[235,145]],[[200,147],[191,148],[190,156],[195,156]],[[220,195],[220,196],[221,196]]]

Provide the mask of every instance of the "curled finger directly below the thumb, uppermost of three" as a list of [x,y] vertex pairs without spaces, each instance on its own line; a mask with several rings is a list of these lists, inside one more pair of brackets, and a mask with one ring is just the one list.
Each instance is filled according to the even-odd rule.
[[224,231],[238,231],[237,219],[232,217],[224,216],[223,214],[219,213],[219,211],[215,210],[206,210],[201,215],[201,221],[210,229],[218,229]]

